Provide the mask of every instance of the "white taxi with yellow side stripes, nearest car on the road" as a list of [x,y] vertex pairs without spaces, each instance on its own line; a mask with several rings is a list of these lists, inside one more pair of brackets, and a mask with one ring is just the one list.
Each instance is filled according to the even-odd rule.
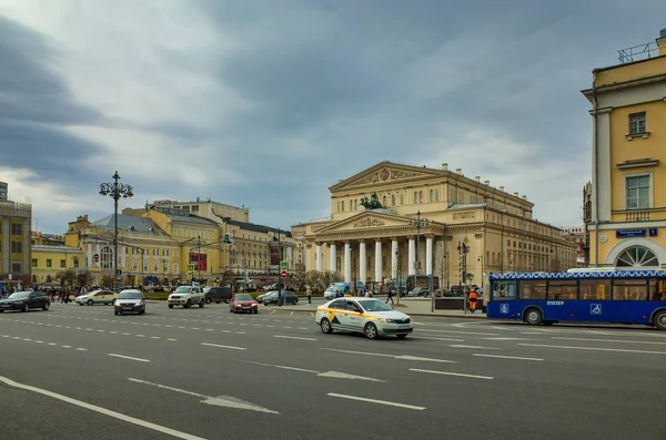
[[373,298],[337,298],[319,306],[314,321],[323,332],[333,330],[362,332],[370,339],[380,336],[405,338],[414,331],[408,315]]

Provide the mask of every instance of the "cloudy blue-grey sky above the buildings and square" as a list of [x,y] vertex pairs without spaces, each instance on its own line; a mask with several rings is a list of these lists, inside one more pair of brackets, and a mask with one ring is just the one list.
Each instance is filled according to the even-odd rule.
[[135,197],[329,214],[327,187],[381,161],[526,194],[582,224],[589,105],[663,0],[0,0],[0,181],[63,232]]

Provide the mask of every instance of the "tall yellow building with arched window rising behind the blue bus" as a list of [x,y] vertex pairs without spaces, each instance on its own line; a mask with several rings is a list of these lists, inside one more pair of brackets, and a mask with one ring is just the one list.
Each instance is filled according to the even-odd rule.
[[[654,51],[650,50],[654,47]],[[593,71],[592,266],[666,267],[666,29]],[[652,57],[654,54],[654,57]]]

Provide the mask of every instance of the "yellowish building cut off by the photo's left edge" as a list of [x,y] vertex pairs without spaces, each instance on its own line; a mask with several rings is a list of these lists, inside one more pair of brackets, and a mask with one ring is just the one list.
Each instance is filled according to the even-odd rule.
[[32,205],[0,202],[0,282],[30,285],[30,227]]

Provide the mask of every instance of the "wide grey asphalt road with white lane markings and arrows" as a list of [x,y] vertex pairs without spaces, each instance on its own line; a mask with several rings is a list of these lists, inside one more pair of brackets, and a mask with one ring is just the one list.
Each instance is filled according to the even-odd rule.
[[224,305],[0,315],[0,438],[664,439],[666,332],[416,318],[405,340]]

